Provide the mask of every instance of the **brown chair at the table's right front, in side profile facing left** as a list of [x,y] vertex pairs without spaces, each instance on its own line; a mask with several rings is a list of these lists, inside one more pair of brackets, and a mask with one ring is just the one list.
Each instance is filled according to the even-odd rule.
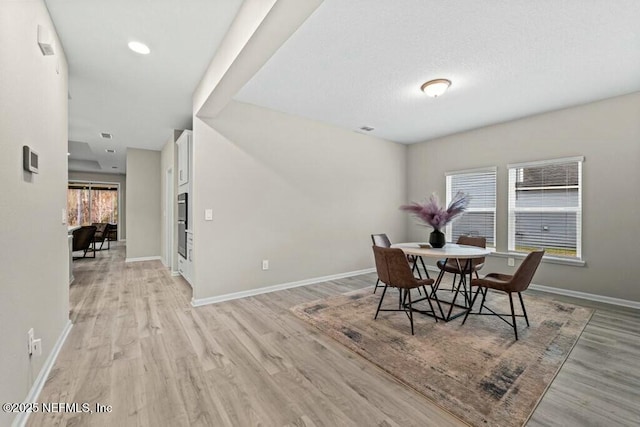
[[[527,310],[524,308],[524,301],[522,300],[522,292],[527,290],[531,280],[533,279],[533,275],[538,269],[538,265],[540,265],[540,261],[544,255],[544,250],[531,252],[527,257],[522,261],[520,267],[516,270],[514,275],[501,274],[501,273],[489,273],[482,279],[473,279],[471,280],[471,287],[478,287],[475,295],[473,296],[473,301],[471,302],[471,308],[467,311],[467,314],[464,316],[464,322],[467,321],[467,317],[469,314],[483,314],[483,315],[493,315],[498,316],[508,325],[513,328],[513,332],[516,335],[516,341],[518,340],[518,328],[516,326],[516,317],[524,317],[524,320],[527,322],[527,326],[529,326],[529,318],[527,317]],[[483,291],[484,289],[484,291]],[[487,293],[489,289],[494,289],[496,291],[506,292],[509,294],[509,305],[511,306],[511,323],[503,316],[508,316],[509,314],[499,314],[495,311],[491,310],[489,307],[484,305]],[[471,313],[473,309],[473,305],[478,298],[478,295],[482,293],[482,302],[480,303],[480,310],[477,313]],[[520,299],[520,305],[522,306],[522,314],[515,314],[515,310],[513,309],[513,293],[518,294],[518,298]],[[483,313],[482,309],[486,308],[489,313]]]

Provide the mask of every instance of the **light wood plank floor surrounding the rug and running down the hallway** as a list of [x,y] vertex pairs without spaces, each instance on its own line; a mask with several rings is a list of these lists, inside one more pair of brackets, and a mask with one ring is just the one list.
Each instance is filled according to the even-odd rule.
[[[28,425],[464,425],[288,310],[374,275],[193,308],[184,280],[123,249],[75,262],[74,327],[39,397],[112,412]],[[597,311],[528,425],[640,425],[640,313],[580,302]]]

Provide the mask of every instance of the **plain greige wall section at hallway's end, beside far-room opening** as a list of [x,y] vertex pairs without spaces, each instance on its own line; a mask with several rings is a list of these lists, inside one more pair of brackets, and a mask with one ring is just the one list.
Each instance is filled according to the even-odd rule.
[[160,257],[160,152],[127,148],[127,259]]

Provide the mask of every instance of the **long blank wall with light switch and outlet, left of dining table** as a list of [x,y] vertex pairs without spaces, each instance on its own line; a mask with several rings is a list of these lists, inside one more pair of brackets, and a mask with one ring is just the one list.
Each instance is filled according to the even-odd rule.
[[195,117],[194,298],[372,267],[371,233],[405,238],[405,151],[238,102]]

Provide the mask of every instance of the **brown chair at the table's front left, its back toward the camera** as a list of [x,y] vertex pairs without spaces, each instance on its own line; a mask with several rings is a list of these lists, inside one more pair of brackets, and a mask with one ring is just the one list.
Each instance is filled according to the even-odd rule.
[[[411,289],[423,287],[425,295],[428,295],[425,286],[432,286],[434,280],[416,279],[413,276],[411,267],[409,267],[409,263],[407,262],[407,257],[405,256],[404,252],[402,252],[402,249],[383,248],[374,245],[373,255],[376,259],[376,270],[378,271],[378,277],[380,278],[380,281],[385,284],[374,319],[378,318],[378,313],[380,313],[381,311],[404,311],[409,316],[409,321],[411,322],[411,335],[413,335],[413,312],[416,310],[412,307]],[[382,306],[382,301],[384,300],[384,295],[387,292],[387,288],[389,286],[398,288],[398,290],[400,290],[400,300],[402,301],[402,304],[398,309],[380,308]],[[404,296],[402,295],[403,293]],[[431,300],[429,298],[426,298],[426,300],[429,302],[429,307],[431,308],[430,312],[433,314],[437,322],[438,318],[436,317],[435,311],[433,310]]]

